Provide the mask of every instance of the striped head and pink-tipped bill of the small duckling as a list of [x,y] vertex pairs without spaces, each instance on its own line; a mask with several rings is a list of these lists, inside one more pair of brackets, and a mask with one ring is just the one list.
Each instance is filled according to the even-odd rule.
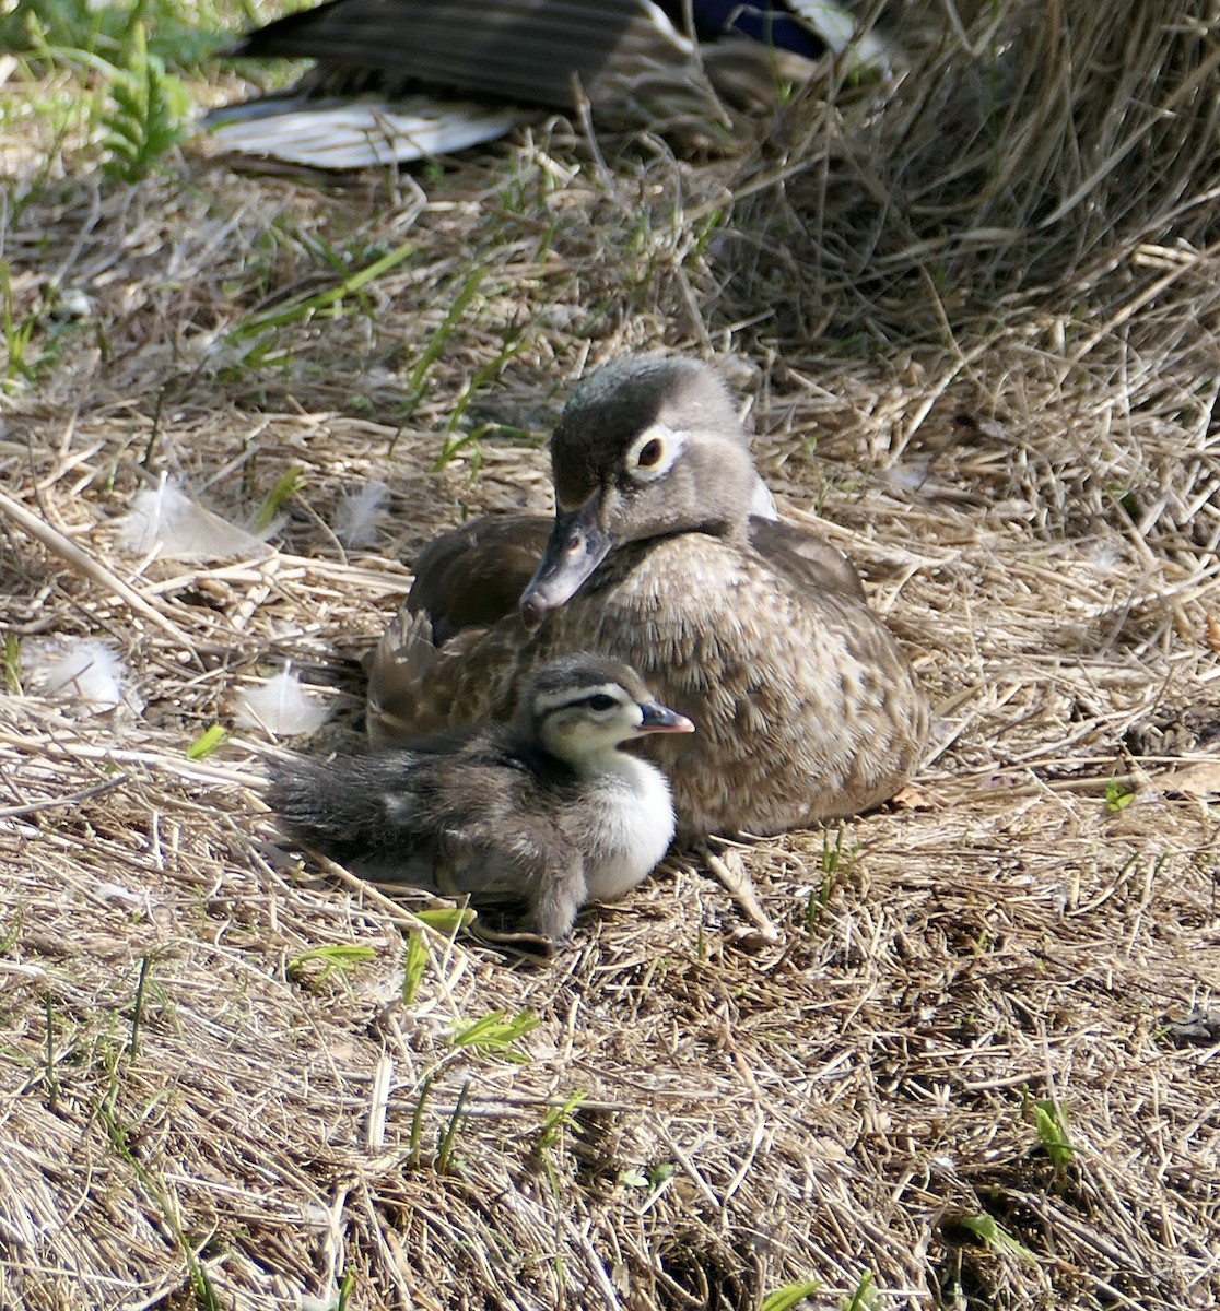
[[632,738],[695,728],[659,705],[630,665],[584,653],[543,665],[521,694],[517,720],[526,737],[577,770]]

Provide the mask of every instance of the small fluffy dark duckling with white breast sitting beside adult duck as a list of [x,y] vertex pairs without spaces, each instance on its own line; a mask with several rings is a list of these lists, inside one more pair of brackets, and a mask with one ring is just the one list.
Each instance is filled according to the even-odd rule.
[[[412,641],[426,646],[426,621]],[[586,901],[615,901],[674,835],[665,776],[622,750],[691,733],[639,674],[585,653],[548,661],[513,725],[483,725],[401,749],[273,772],[286,832],[365,877],[446,895],[525,902],[526,924],[565,937]]]

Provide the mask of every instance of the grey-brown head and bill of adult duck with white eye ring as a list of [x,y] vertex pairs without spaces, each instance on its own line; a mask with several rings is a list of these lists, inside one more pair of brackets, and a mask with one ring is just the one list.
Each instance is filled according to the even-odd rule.
[[769,501],[728,388],[697,359],[624,355],[576,389],[551,438],[555,527],[521,598],[527,627],[626,541],[745,540]]

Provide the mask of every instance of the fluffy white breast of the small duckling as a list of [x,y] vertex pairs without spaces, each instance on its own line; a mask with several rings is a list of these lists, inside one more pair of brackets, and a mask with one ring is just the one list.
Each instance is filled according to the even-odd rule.
[[673,800],[664,775],[615,753],[614,764],[586,781],[579,844],[590,901],[617,901],[661,861],[674,835]]

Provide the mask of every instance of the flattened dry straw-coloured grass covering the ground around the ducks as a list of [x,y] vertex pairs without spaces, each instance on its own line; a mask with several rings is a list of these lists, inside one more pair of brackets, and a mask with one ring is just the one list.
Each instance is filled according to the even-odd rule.
[[[824,89],[708,165],[551,125],[129,187],[7,119],[0,465],[52,531],[5,507],[5,628],[106,637],[147,705],[0,699],[0,1306],[1215,1304],[1220,1066],[1164,1017],[1220,987],[1217,16],[983,8],[933,7],[888,104]],[[186,753],[286,658],[350,724],[420,543],[544,506],[571,382],[661,342],[731,355],[941,737],[903,804],[748,853],[778,947],[662,872],[513,964],[278,850],[270,745]],[[432,472],[455,413],[476,477]],[[118,547],[146,469],[248,510],[293,468],[274,553]],[[344,555],[367,477],[392,517]],[[455,1041],[501,1011],[537,1027]]]

